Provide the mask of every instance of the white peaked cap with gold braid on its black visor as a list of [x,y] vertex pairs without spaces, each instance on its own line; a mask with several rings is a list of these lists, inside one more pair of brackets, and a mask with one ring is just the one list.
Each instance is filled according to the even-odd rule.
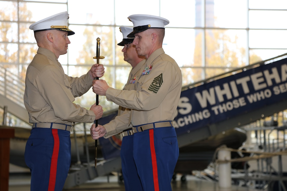
[[69,14],[67,11],[64,11],[35,22],[29,28],[34,32],[56,29],[68,32],[68,35],[73,35],[75,32],[69,30],[68,19]]

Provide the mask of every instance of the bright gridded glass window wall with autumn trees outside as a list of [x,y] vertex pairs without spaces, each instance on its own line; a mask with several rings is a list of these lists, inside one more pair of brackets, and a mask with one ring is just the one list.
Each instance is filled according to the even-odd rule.
[[[282,0],[0,0],[0,69],[25,79],[37,51],[29,26],[50,15],[68,11],[68,52],[60,63],[70,76],[88,72],[96,63],[96,38],[101,38],[102,79],[117,89],[127,81],[131,66],[123,61],[119,26],[131,26],[132,14],[151,14],[170,21],[163,48],[181,67],[183,86],[232,69],[286,53],[287,3]],[[88,91],[76,103],[95,102]],[[104,111],[117,108],[100,96]]]

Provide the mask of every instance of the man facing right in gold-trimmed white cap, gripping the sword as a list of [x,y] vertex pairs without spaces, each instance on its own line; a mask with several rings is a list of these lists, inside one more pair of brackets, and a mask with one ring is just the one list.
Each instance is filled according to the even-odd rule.
[[71,165],[70,132],[73,122],[88,122],[102,116],[102,106],[90,110],[73,101],[102,77],[104,67],[92,65],[81,77],[64,73],[58,58],[67,53],[75,34],[67,26],[68,12],[55,14],[30,26],[38,45],[26,72],[24,104],[32,123],[25,148],[25,162],[31,171],[31,191],[63,190]]

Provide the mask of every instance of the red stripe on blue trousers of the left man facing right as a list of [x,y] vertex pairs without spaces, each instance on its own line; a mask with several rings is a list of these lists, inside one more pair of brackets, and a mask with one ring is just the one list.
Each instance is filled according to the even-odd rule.
[[60,141],[59,141],[59,136],[58,136],[58,129],[52,129],[52,134],[54,137],[54,148],[53,148],[53,154],[52,154],[52,159],[51,159],[48,191],[54,191],[55,190],[57,163],[58,163],[59,145],[60,145],[59,144]]

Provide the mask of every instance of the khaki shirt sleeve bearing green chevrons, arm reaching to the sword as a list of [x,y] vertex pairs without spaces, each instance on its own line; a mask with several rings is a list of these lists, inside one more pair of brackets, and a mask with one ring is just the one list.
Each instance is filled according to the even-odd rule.
[[108,88],[106,99],[120,106],[148,111],[157,108],[168,91],[179,83],[179,75],[169,61],[162,61],[137,81],[137,90]]

